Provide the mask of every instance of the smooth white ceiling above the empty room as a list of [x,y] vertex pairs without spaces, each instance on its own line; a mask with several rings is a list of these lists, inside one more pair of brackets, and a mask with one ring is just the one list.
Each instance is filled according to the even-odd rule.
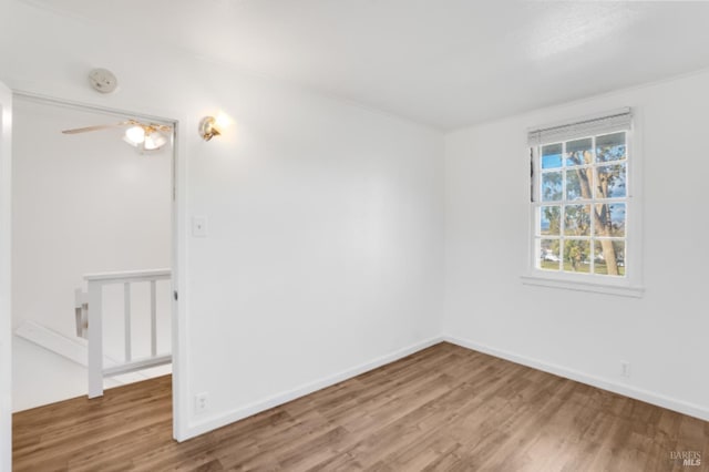
[[709,2],[32,3],[442,130],[709,66]]

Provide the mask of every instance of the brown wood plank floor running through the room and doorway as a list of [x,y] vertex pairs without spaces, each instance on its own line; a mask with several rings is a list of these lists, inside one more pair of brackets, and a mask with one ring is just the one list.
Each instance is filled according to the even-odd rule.
[[183,443],[171,408],[163,377],[17,413],[14,470],[709,470],[708,422],[449,343]]

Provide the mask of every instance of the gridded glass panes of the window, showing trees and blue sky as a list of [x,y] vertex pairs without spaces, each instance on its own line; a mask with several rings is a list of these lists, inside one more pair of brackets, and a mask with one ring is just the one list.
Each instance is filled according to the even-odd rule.
[[538,147],[537,269],[625,276],[627,138],[620,131]]

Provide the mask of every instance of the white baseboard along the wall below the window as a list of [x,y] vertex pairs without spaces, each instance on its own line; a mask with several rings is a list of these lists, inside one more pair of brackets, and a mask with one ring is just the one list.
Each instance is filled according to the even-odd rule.
[[682,400],[665,397],[648,390],[639,389],[618,382],[614,382],[602,377],[589,376],[584,372],[579,372],[574,369],[568,369],[563,366],[557,366],[548,362],[544,362],[537,359],[532,359],[526,356],[520,356],[514,352],[508,352],[500,349],[492,348],[490,346],[481,345],[474,341],[456,338],[454,336],[444,335],[442,340],[451,342],[463,348],[472,349],[474,351],[483,352],[490,356],[494,356],[501,359],[505,359],[522,366],[527,366],[533,369],[542,370],[544,372],[554,373],[566,379],[575,380],[580,383],[586,383],[592,387],[597,387],[603,390],[608,390],[614,393],[618,393],[625,397],[629,397],[636,400],[651,403],[658,407],[667,408],[679,413],[688,414],[690,417],[699,418],[703,421],[709,421],[709,409],[698,404],[689,403]]

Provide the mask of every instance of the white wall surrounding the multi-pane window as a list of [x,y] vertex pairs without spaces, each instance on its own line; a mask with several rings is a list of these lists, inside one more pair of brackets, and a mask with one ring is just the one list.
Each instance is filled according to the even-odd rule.
[[[462,343],[709,419],[706,111],[709,73],[445,137],[445,321]],[[633,106],[644,171],[645,297],[522,285],[527,127]],[[631,377],[620,377],[620,361]]]

